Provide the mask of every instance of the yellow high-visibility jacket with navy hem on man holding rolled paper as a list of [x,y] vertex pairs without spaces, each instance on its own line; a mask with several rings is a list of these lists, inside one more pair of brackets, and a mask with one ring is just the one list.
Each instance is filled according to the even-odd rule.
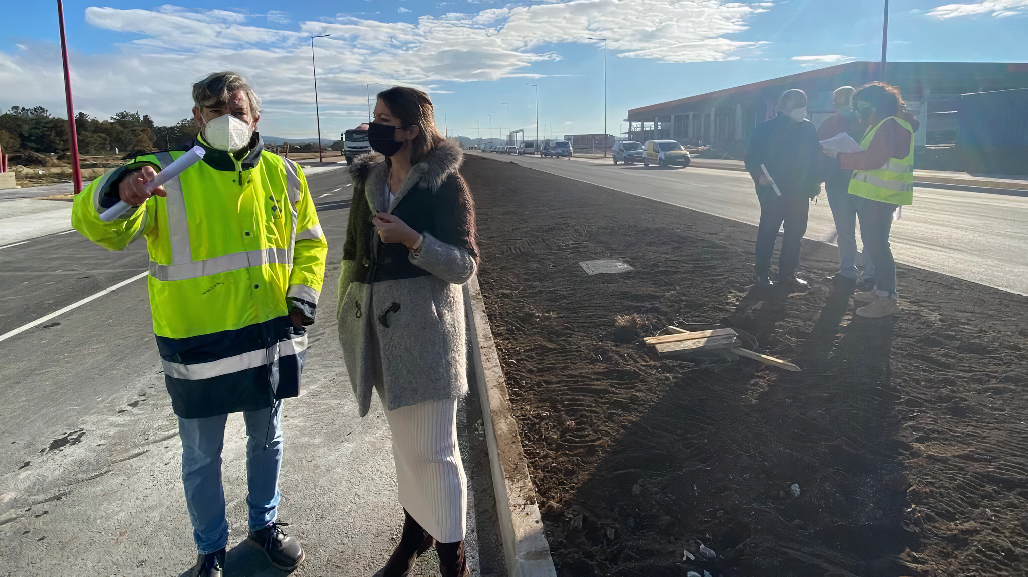
[[155,170],[184,151],[140,156],[75,197],[72,226],[120,251],[146,238],[153,332],[175,414],[196,419],[256,411],[296,396],[306,331],[314,322],[328,244],[306,180],[293,161],[251,147],[208,147],[204,159],[110,223],[100,214],[131,170]]

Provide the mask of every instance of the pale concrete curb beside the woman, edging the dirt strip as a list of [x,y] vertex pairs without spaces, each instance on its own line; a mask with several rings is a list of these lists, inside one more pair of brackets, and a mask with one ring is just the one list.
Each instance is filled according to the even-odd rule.
[[507,574],[556,577],[477,277],[464,285],[464,299]]

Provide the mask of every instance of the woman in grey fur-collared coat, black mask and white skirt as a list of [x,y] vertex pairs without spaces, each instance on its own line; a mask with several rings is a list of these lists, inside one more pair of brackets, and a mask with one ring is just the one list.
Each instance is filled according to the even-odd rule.
[[456,401],[468,390],[464,293],[477,266],[475,206],[461,149],[428,94],[378,93],[351,166],[354,200],[339,278],[339,341],[361,416],[376,389],[393,435],[404,527],[384,575],[406,575],[435,542],[444,576],[468,575],[467,479]]

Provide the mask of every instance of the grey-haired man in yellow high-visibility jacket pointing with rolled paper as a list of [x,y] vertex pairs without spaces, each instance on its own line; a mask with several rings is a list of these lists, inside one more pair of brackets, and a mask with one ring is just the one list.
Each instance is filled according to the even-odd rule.
[[[198,548],[193,576],[220,577],[228,524],[221,449],[228,413],[247,435],[249,539],[276,568],[303,560],[276,523],[281,403],[299,393],[328,247],[300,167],[265,152],[254,131],[260,100],[240,75],[192,86],[199,129],[183,150],[145,154],[75,197],[72,224],[120,251],[146,239],[147,284],[164,383],[178,416],[182,483]],[[193,144],[204,159],[153,191],[143,188]],[[136,206],[112,222],[101,213]],[[281,524],[285,525],[285,524]]]

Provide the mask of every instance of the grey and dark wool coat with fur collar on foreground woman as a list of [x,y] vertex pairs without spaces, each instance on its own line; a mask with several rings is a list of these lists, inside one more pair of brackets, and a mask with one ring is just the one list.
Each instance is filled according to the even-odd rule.
[[[351,166],[354,200],[339,277],[339,342],[360,415],[377,389],[390,411],[467,393],[462,285],[477,268],[475,207],[446,142],[411,166],[392,201],[378,154]],[[417,253],[380,241],[371,223],[390,213],[415,231]]]

